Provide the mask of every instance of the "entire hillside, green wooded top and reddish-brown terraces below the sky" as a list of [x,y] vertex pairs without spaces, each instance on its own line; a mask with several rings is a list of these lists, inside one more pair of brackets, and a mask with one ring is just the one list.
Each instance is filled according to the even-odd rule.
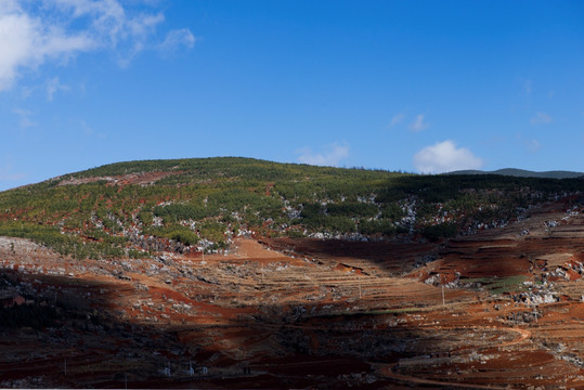
[[583,190],[221,158],[0,193],[0,388],[582,388]]

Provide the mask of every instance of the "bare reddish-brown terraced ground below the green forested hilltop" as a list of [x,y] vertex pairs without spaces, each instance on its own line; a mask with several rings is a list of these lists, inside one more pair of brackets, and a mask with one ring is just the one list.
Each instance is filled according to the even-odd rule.
[[150,260],[0,237],[3,304],[57,314],[0,328],[0,388],[584,388],[584,205],[567,205],[447,242]]

